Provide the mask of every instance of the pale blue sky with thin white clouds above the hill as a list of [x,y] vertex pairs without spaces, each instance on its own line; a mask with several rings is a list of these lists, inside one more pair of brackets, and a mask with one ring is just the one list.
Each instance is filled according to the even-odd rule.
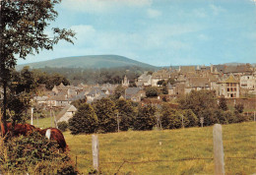
[[62,0],[64,41],[18,64],[114,54],[154,66],[256,63],[254,0]]

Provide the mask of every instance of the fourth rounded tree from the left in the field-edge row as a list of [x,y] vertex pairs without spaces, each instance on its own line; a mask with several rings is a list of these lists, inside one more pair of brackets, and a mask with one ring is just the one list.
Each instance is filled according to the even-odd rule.
[[138,115],[135,121],[135,130],[152,130],[157,124],[156,114],[157,109],[154,106],[139,107]]

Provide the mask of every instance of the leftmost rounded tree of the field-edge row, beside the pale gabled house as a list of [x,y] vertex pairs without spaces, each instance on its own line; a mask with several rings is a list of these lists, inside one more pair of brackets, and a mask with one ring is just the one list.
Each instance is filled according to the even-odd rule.
[[95,109],[87,103],[80,105],[76,114],[69,119],[69,129],[72,135],[95,133],[97,129]]

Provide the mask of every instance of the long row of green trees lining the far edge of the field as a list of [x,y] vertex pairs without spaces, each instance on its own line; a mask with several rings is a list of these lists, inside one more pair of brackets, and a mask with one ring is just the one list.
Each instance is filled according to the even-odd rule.
[[152,130],[156,126],[162,129],[196,127],[201,125],[201,117],[204,126],[248,120],[239,107],[234,112],[224,110],[224,101],[218,104],[215,92],[211,90],[191,91],[178,101],[179,108],[171,108],[168,103],[143,106],[130,100],[110,98],[99,99],[92,105],[76,103],[78,111],[68,125],[71,133],[76,135],[116,132],[118,125],[121,131]]

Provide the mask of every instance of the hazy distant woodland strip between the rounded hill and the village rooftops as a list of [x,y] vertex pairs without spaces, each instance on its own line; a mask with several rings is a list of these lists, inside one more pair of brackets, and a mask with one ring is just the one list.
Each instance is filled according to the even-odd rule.
[[60,74],[69,80],[72,85],[84,84],[121,84],[126,75],[130,83],[134,83],[145,71],[155,71],[150,68],[141,67],[120,67],[120,68],[101,68],[101,69],[83,69],[83,68],[51,68],[45,67],[38,69],[47,74]]

